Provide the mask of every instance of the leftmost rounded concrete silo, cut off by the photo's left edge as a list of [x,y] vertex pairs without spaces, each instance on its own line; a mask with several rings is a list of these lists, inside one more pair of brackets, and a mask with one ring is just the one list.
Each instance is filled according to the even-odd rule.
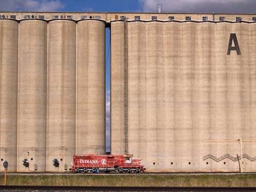
[[0,20],[0,171],[8,161],[9,172],[17,162],[18,22]]

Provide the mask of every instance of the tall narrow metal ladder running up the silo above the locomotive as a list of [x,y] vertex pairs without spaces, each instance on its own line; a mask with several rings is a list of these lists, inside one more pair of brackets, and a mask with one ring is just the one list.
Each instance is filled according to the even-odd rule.
[[128,34],[124,21],[124,153],[128,154]]

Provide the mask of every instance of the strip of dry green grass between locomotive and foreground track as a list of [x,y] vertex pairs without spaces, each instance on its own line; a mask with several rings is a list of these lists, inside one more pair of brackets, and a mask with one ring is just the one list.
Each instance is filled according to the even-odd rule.
[[[0,175],[0,185],[4,175]],[[7,175],[7,185],[57,186],[212,186],[256,187],[256,174],[246,175]]]

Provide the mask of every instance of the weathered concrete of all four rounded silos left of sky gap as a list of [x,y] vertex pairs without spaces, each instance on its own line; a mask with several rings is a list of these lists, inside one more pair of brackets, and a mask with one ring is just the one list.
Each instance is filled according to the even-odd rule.
[[0,29],[0,162],[63,172],[75,154],[104,154],[105,23],[0,19]]

